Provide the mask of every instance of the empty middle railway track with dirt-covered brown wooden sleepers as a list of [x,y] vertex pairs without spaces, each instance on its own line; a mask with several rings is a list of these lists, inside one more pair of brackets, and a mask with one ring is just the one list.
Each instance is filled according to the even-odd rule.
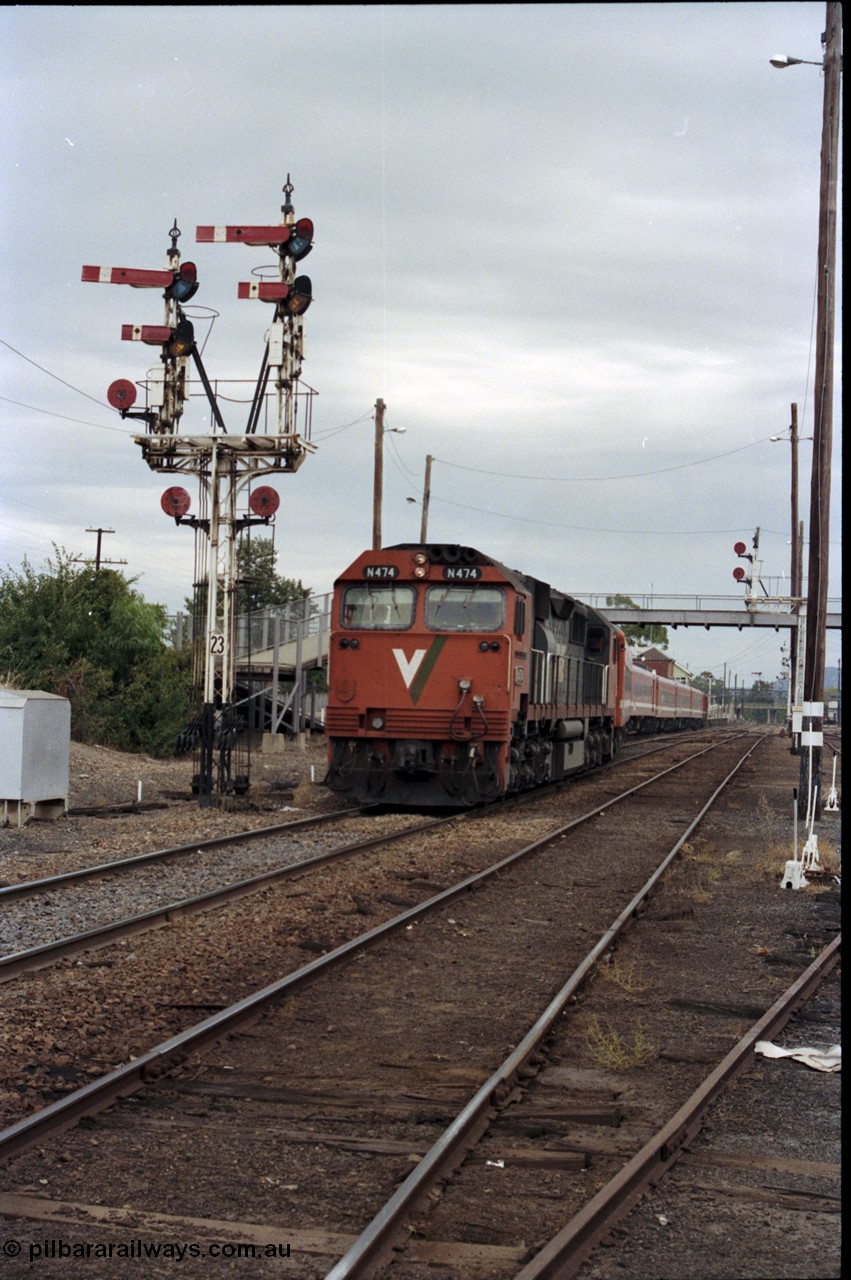
[[[659,786],[671,787],[672,778]],[[678,870],[673,864],[682,854],[688,832],[695,829],[694,786],[692,781],[672,796],[677,820],[686,828],[663,859],[672,877]],[[473,892],[473,886],[481,882],[470,877],[445,893],[435,895],[427,915],[422,904],[402,913],[394,920],[397,941],[393,945],[381,941],[378,929],[370,931],[371,937],[360,940],[357,945],[353,940],[351,945],[337,948],[337,954],[305,966],[301,974],[271,984],[264,1004],[282,998],[285,1002],[262,1023],[256,1023],[261,1002],[243,1001],[242,1007],[207,1019],[195,1037],[175,1037],[120,1074],[113,1073],[105,1092],[92,1085],[81,1091],[76,1100],[51,1108],[50,1114],[14,1126],[14,1132],[5,1138],[6,1153],[50,1142],[51,1126],[65,1125],[76,1116],[97,1110],[107,1097],[138,1091],[145,1084],[139,1101],[122,1102],[107,1117],[96,1121],[97,1158],[91,1158],[92,1130],[78,1129],[63,1138],[61,1160],[50,1155],[22,1157],[22,1165],[15,1161],[13,1172],[17,1166],[24,1181],[35,1179],[33,1185],[37,1187],[42,1185],[42,1179],[37,1176],[41,1162],[41,1172],[49,1175],[45,1185],[52,1188],[49,1193],[40,1193],[40,1206],[35,1210],[31,1206],[24,1216],[45,1213],[54,1230],[56,1222],[64,1222],[63,1230],[78,1231],[81,1224],[91,1229],[104,1217],[92,1207],[104,1197],[110,1203],[107,1171],[118,1152],[124,1152],[122,1161],[125,1171],[131,1134],[132,1146],[139,1147],[138,1164],[143,1167],[146,1156],[155,1151],[163,1155],[161,1135],[168,1130],[177,1135],[177,1166],[188,1167],[180,1165],[186,1160],[195,1162],[193,1183],[196,1172],[203,1185],[207,1185],[207,1179],[212,1183],[218,1179],[209,1161],[202,1158],[209,1143],[216,1144],[216,1158],[221,1157],[234,1176],[237,1169],[251,1167],[252,1185],[256,1184],[262,1194],[253,1216],[248,1215],[250,1199],[239,1201],[237,1196],[235,1203],[225,1202],[228,1213],[242,1208],[238,1224],[225,1213],[223,1221],[230,1224],[229,1230],[233,1228],[235,1231],[238,1226],[243,1236],[256,1243],[264,1233],[264,1238],[270,1240],[275,1224],[285,1228],[301,1251],[299,1268],[293,1274],[325,1274],[322,1268],[334,1265],[335,1251],[344,1253],[353,1247],[352,1236],[369,1220],[370,1204],[379,1198],[379,1188],[388,1184],[395,1187],[401,1171],[404,1174],[412,1161],[417,1161],[417,1170],[425,1167],[427,1151],[431,1149],[426,1139],[436,1129],[434,1140],[441,1140],[440,1121],[452,1117],[453,1103],[459,1094],[468,1097],[471,1092],[476,1093],[476,1083],[479,1093],[486,1089],[485,1112],[489,1112],[497,1094],[504,1093],[498,1098],[502,1106],[525,1073],[536,1073],[537,1064],[532,1059],[540,1052],[540,1039],[531,1046],[531,1059],[526,1055],[516,1060],[517,1042],[522,1039],[518,1019],[526,1028],[532,988],[544,989],[552,997],[553,989],[564,986],[558,983],[558,974],[563,977],[566,964],[569,966],[576,961],[571,975],[576,977],[581,970],[581,983],[604,956],[612,954],[617,933],[613,932],[612,918],[607,916],[612,886],[600,855],[605,852],[617,858],[623,879],[631,876],[640,879],[640,884],[648,883],[641,873],[653,861],[653,851],[635,847],[639,840],[644,844],[649,841],[646,804],[640,797],[648,794],[632,797],[632,804],[644,808],[644,813],[635,813],[628,820],[619,819],[617,824],[610,822],[614,801],[605,801],[594,819],[594,840],[587,838],[587,827],[580,829],[571,823],[572,831],[566,829],[558,837],[557,850],[552,849],[550,841],[549,851],[537,851],[534,859],[531,849],[526,849],[526,856],[518,856],[513,867],[509,859],[500,860],[498,868],[490,872],[486,892]],[[690,810],[687,815],[683,808]],[[665,820],[673,820],[672,815],[668,814]],[[614,833],[610,831],[613,826],[618,828]],[[616,840],[622,836],[626,841],[619,850]],[[572,849],[566,844],[568,841],[572,841]],[[649,877],[653,883],[646,893],[662,892],[663,863],[658,863]],[[617,916],[621,919],[619,928],[637,918],[636,931],[640,929],[641,904],[646,893],[639,896],[639,891],[640,886],[630,896],[626,888],[618,888],[622,900]],[[522,897],[518,896],[521,893]],[[567,922],[569,936],[566,934]],[[586,933],[598,936],[590,951]],[[490,945],[494,938],[495,947]],[[554,938],[558,940],[555,943]],[[362,950],[363,946],[371,947],[369,954]],[[479,968],[472,965],[473,952]],[[534,959],[531,968],[530,959]],[[331,965],[337,966],[335,978],[322,982],[322,974]],[[310,991],[302,995],[307,982],[311,983]],[[490,1005],[485,998],[488,992],[493,993]],[[576,991],[568,991],[562,1009],[576,1012],[572,1005],[575,997]],[[507,1007],[512,1001],[513,1011]],[[545,1004],[549,1007],[552,998]],[[413,1021],[406,1021],[403,1012],[413,1014]],[[433,1012],[439,1016],[426,1029],[421,1023],[426,1014]],[[550,1012],[550,1023],[562,1018],[561,1010]],[[251,1023],[255,1025],[246,1032]],[[239,1039],[225,1041],[209,1050],[203,1061],[195,1059],[205,1041],[218,1041],[228,1029],[233,1032],[238,1027],[243,1028]],[[489,1087],[493,1064],[500,1061],[494,1057],[494,1051],[505,1041],[512,1044],[507,1061],[514,1065],[499,1087]],[[175,1059],[186,1059],[177,1076],[164,1078],[155,1085],[146,1083]],[[587,1096],[584,1101],[587,1111]],[[356,1132],[352,1132],[349,1116],[357,1117]],[[473,1128],[479,1123],[476,1120]],[[271,1164],[265,1158],[269,1153],[256,1149],[261,1130],[274,1134]],[[227,1140],[223,1134],[228,1135]],[[230,1137],[235,1134],[242,1134],[247,1143],[241,1155],[235,1151],[238,1143],[232,1151]],[[470,1137],[465,1137],[462,1146],[468,1140]],[[224,1156],[223,1143],[227,1148]],[[306,1153],[306,1164],[298,1164],[297,1157]],[[99,1165],[101,1156],[102,1167]],[[450,1165],[457,1156],[457,1149],[450,1153]],[[557,1152],[561,1166],[552,1153],[549,1164],[558,1176],[569,1176],[568,1157],[576,1162],[576,1151],[566,1148]],[[335,1157],[343,1160],[344,1169],[335,1165]],[[45,1158],[50,1167],[44,1164]],[[267,1172],[261,1172],[261,1167]],[[482,1167],[498,1169],[499,1161]],[[90,1176],[93,1178],[91,1183]],[[100,1189],[99,1176],[106,1179]],[[138,1181],[141,1175],[137,1172],[133,1176]],[[157,1190],[163,1192],[161,1183],[163,1179]],[[239,1179],[233,1185],[238,1183]],[[326,1197],[324,1208],[319,1207],[320,1185]],[[81,1190],[84,1187],[91,1188],[88,1199]],[[296,1196],[293,1188],[301,1188],[302,1196]],[[429,1189],[433,1190],[431,1187]],[[22,1194],[19,1187],[14,1194]],[[52,1201],[45,1203],[56,1194],[63,1198],[65,1210],[56,1208]],[[191,1198],[182,1199],[180,1192],[174,1189],[174,1193],[169,1190],[166,1199],[168,1206],[160,1203],[157,1211],[166,1210],[173,1228],[178,1222],[186,1226],[193,1216]],[[4,1203],[8,1211],[22,1210],[20,1201]],[[293,1234],[292,1215],[296,1208],[307,1212],[308,1219],[312,1212],[314,1226]],[[150,1230],[151,1206],[146,1208],[139,1202],[133,1212],[137,1219],[139,1215],[146,1219],[147,1215],[145,1230]],[[404,1213],[410,1212],[406,1207]],[[110,1230],[122,1221],[129,1222],[132,1216],[122,1219],[122,1213],[110,1210],[106,1215],[113,1224]],[[77,1226],[70,1228],[70,1222]],[[198,1229],[211,1230],[209,1213],[205,1213],[200,1226],[196,1222]],[[221,1221],[216,1230],[220,1234],[224,1230]],[[494,1261],[495,1253],[502,1260],[500,1265],[507,1261],[504,1249],[499,1253],[503,1247],[488,1242],[482,1244],[454,1238],[447,1248],[456,1265],[461,1265],[459,1258],[462,1262],[466,1258],[465,1266],[472,1265],[475,1256],[476,1266],[484,1266],[488,1260]],[[441,1256],[448,1256],[445,1248]],[[404,1265],[420,1263],[408,1257]],[[462,1270],[458,1274],[472,1272]]]

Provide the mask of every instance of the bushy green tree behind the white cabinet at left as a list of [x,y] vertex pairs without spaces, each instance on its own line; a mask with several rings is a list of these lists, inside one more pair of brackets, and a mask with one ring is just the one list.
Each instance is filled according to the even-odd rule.
[[0,669],[20,689],[68,698],[74,737],[164,754],[189,687],[165,608],[146,603],[134,579],[54,552],[41,571],[24,559],[0,572]]

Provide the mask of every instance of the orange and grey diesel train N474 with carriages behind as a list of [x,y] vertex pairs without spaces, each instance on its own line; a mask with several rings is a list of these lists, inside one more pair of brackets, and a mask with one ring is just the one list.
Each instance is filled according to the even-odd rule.
[[706,709],[598,609],[471,547],[363,552],[334,584],[325,781],[360,801],[497,800]]

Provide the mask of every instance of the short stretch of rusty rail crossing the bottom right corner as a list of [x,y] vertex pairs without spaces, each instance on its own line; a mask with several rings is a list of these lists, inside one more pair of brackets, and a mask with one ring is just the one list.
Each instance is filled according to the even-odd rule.
[[705,1114],[750,1062],[760,1039],[773,1039],[839,960],[842,934],[754,1023],[659,1133],[523,1266],[514,1280],[569,1280],[616,1222],[655,1185],[703,1129]]

